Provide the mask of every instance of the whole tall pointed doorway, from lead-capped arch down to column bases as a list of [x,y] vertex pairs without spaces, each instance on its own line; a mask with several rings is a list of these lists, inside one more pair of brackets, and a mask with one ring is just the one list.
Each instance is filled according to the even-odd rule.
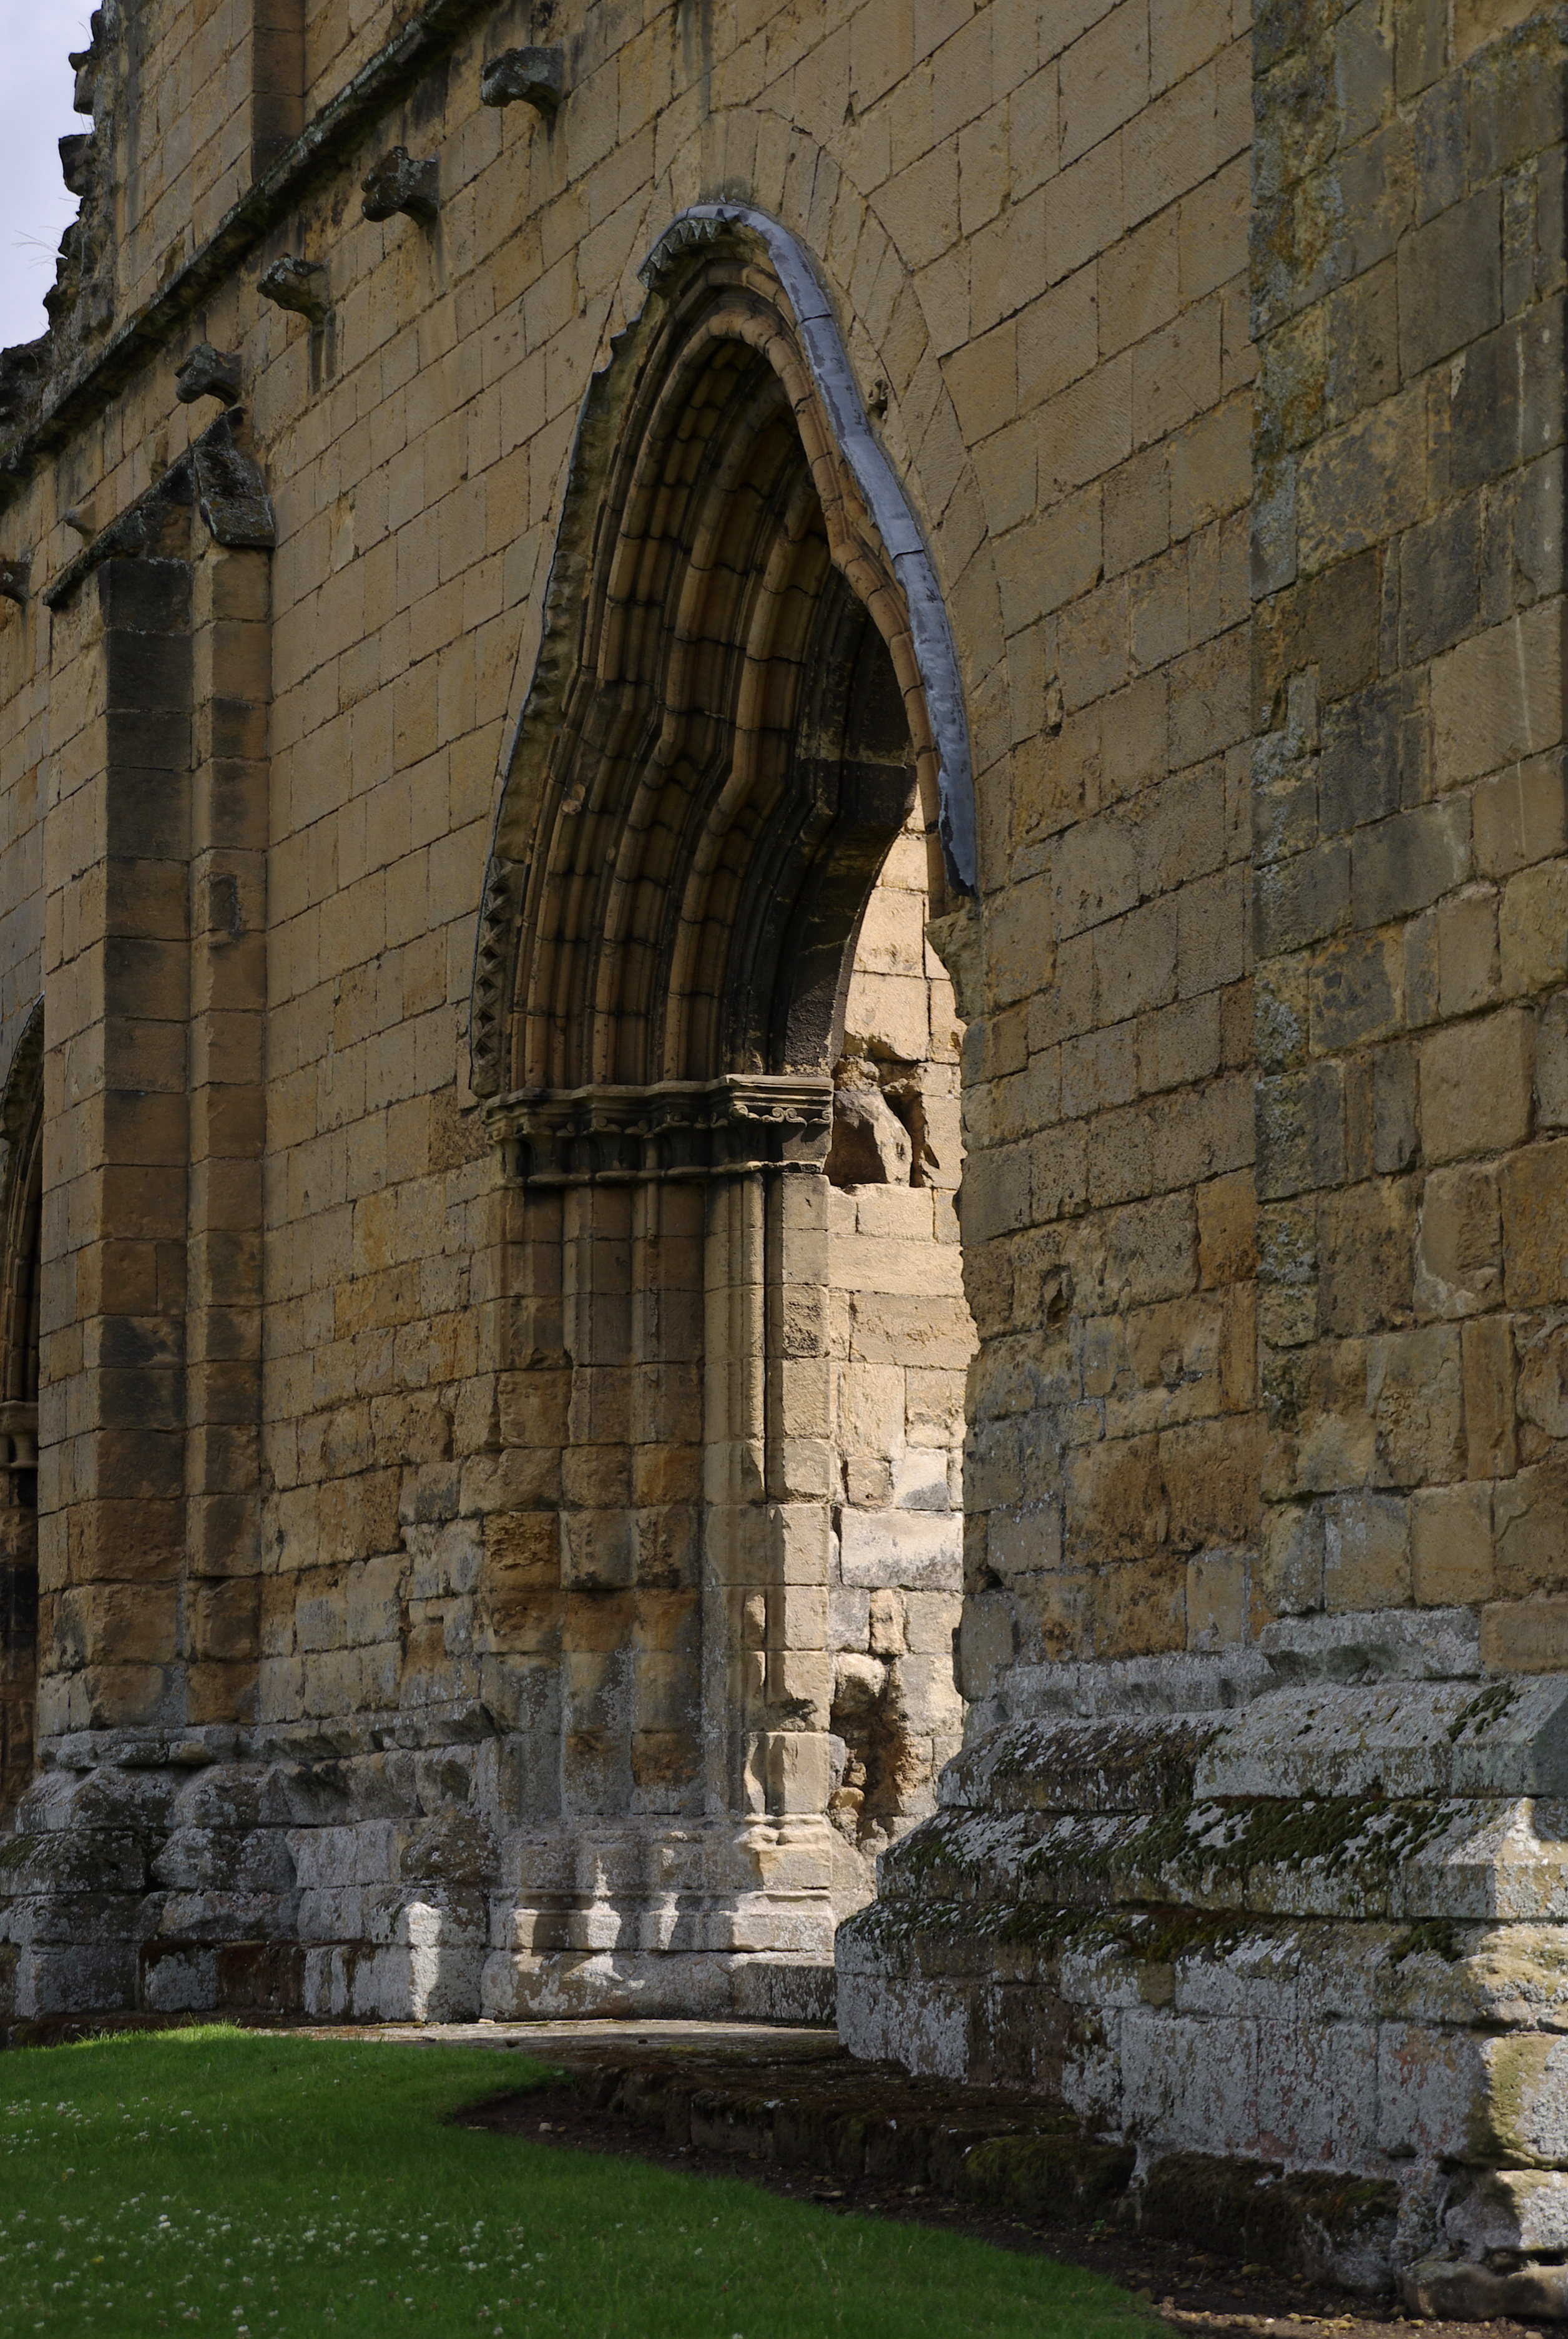
[[487,2007],[805,2012],[866,1897],[864,1829],[917,1815],[957,1719],[950,1649],[885,1623],[845,1670],[833,1640],[850,1593],[945,1595],[957,1623],[962,1523],[953,1408],[941,1471],[906,1474],[922,1499],[892,1467],[880,1527],[852,1499],[831,1261],[835,1193],[899,1184],[889,1228],[924,1212],[924,1291],[908,1226],[887,1237],[892,1408],[931,1282],[957,1291],[955,1137],[931,1137],[953,1003],[920,931],[913,1036],[857,1034],[850,1001],[894,856],[906,901],[910,865],[934,910],[974,886],[969,746],[931,564],[800,248],[702,206],[641,274],[578,428],[475,961],[517,1492],[484,1530],[517,1829]]

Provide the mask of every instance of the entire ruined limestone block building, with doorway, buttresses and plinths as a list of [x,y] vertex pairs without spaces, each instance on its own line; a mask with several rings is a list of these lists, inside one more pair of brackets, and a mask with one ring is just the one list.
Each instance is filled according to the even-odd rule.
[[1568,2313],[1566,61],[94,14],[7,2037],[838,2007]]

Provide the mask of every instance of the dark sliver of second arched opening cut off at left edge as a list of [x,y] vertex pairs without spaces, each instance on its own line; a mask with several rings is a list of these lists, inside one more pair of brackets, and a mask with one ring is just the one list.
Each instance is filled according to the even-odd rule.
[[0,1810],[33,1775],[37,1696],[37,1315],[44,1184],[44,1003],[0,1095]]

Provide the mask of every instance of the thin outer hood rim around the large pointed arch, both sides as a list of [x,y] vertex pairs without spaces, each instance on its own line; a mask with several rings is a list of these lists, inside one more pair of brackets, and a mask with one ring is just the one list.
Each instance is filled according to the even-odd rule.
[[[660,276],[693,246],[754,239],[791,309],[812,391],[854,489],[878,531],[910,622],[910,643],[936,746],[938,842],[955,896],[978,893],[974,763],[957,648],[936,566],[887,454],[871,428],[833,304],[807,248],[779,220],[749,203],[693,203],[653,243],[637,269],[653,292]],[[506,1085],[506,1027],[513,940],[527,877],[536,781],[566,702],[585,610],[599,487],[620,430],[648,311],[615,337],[611,360],[583,398],[566,461],[566,489],[545,578],[541,641],[517,725],[503,758],[501,802],[491,835],[468,1015],[470,1085],[494,1097]]]

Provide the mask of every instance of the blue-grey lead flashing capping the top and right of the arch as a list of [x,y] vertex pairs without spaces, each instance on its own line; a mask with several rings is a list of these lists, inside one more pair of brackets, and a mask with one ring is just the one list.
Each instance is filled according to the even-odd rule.
[[936,744],[936,833],[948,884],[955,893],[978,893],[969,720],[964,716],[964,690],[948,608],[915,515],[866,416],[850,351],[843,344],[833,304],[812,267],[810,253],[786,227],[765,211],[751,211],[749,203],[693,203],[690,211],[669,222],[637,276],[653,290],[681,253],[695,243],[718,241],[725,229],[742,229],[756,236],[768,253],[800,327],[800,346],[812,372],[812,388],[821,400],[828,428],[850,465],[850,477],[875,522],[899,578],[910,615],[910,639],[915,643],[915,664],[924,690],[931,739]]

